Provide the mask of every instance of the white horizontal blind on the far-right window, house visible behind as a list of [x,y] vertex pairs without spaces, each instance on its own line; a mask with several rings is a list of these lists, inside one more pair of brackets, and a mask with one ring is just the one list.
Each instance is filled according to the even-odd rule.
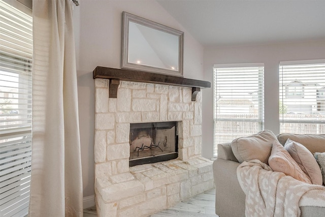
[[280,133],[325,134],[325,59],[280,62]]

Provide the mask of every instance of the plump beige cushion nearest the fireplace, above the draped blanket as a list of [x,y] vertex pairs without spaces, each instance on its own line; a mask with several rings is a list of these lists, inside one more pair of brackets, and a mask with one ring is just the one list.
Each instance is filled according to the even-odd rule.
[[239,163],[257,159],[268,164],[272,143],[276,136],[270,130],[264,130],[247,137],[232,141],[232,150]]

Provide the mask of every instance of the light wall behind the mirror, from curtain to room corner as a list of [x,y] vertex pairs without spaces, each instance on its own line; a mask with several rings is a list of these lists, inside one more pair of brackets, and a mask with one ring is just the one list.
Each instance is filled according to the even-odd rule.
[[74,7],[83,196],[94,195],[94,80],[96,66],[120,68],[122,11],[184,32],[184,77],[203,80],[203,47],[154,0],[79,1]]

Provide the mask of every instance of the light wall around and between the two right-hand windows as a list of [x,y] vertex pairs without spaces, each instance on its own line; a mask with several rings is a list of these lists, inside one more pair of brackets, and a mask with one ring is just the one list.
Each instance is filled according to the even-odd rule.
[[[206,47],[204,80],[213,85],[214,64],[264,63],[265,129],[279,133],[279,61],[325,58],[325,40],[314,42],[255,45],[242,47]],[[213,157],[213,88],[203,90],[202,155]]]

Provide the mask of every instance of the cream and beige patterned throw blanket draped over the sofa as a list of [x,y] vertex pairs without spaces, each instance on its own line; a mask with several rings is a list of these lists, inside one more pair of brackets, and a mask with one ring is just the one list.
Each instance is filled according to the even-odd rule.
[[300,206],[325,208],[325,187],[274,172],[261,161],[243,162],[237,177],[246,195],[246,217],[300,216]]

